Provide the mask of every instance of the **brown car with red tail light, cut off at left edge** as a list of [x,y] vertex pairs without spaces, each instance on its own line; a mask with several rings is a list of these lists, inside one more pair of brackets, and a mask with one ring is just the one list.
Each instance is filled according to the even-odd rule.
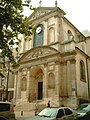
[[0,116],[3,116],[8,120],[15,120],[14,107],[11,102],[0,102]]

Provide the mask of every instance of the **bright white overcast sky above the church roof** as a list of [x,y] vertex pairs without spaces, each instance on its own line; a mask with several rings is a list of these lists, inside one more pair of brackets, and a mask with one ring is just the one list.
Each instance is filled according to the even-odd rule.
[[[31,0],[33,7],[39,7],[40,0]],[[41,0],[41,7],[54,7],[55,0]],[[90,0],[57,0],[57,6],[66,13],[65,17],[79,30],[90,32]],[[25,16],[31,11],[24,9]]]

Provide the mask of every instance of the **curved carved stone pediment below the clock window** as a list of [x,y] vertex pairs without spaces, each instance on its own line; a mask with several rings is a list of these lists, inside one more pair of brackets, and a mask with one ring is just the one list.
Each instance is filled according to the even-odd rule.
[[57,53],[59,53],[59,51],[57,51],[52,47],[47,47],[47,46],[36,47],[27,51],[25,54],[23,54],[19,62],[34,60],[34,59],[38,59],[38,58],[42,58],[50,55],[55,55]]

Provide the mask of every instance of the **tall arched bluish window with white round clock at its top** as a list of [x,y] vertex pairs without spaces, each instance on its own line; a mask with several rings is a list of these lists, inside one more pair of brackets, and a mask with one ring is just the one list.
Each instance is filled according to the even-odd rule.
[[34,47],[43,45],[44,38],[44,27],[43,25],[38,25],[34,33]]

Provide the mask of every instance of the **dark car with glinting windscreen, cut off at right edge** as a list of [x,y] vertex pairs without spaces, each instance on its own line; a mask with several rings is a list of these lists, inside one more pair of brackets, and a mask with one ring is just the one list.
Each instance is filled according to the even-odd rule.
[[86,117],[90,118],[90,103],[79,105],[76,111],[79,119],[85,119]]

